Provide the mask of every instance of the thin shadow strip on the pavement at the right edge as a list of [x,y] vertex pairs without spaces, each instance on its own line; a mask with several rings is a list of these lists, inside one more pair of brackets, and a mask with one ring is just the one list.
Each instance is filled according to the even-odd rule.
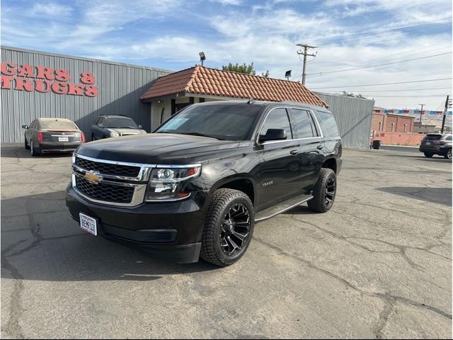
[[376,188],[385,193],[394,193],[409,198],[425,200],[425,202],[437,203],[452,206],[452,187],[449,188],[425,188],[412,186],[390,186],[387,188]]

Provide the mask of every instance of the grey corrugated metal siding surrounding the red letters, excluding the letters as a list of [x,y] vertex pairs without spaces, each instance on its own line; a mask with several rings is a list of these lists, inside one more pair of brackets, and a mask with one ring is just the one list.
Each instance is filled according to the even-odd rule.
[[[103,60],[90,60],[46,52],[23,50],[16,47],[1,47],[1,61],[33,66],[67,69],[69,83],[79,84],[81,72],[91,72],[96,77],[99,89],[97,97],[42,94],[38,91],[1,90],[1,142],[22,143],[21,125],[30,124],[38,117],[69,118],[89,139],[91,124],[98,115],[129,115],[144,130],[151,130],[151,104],[139,98],[149,88],[151,81],[171,73],[130,64]],[[13,85],[13,84],[12,84]]]

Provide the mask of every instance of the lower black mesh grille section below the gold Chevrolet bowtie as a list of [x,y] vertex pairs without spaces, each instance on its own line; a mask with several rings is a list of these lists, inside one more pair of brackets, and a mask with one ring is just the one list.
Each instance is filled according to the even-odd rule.
[[113,186],[107,183],[93,184],[79,176],[76,176],[76,188],[89,198],[112,203],[131,203],[134,196],[134,187]]

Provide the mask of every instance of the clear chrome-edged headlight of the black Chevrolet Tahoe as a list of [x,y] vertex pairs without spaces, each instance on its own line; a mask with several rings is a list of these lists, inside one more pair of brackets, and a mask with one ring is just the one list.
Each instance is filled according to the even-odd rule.
[[147,194],[147,202],[182,200],[188,198],[190,193],[181,191],[186,181],[200,176],[201,165],[181,167],[157,167],[151,171]]

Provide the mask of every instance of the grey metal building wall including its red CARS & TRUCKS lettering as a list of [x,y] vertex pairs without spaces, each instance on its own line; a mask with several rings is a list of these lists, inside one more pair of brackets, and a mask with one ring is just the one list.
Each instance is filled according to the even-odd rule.
[[[1,142],[23,143],[21,125],[69,118],[87,137],[102,114],[125,114],[151,130],[151,104],[140,96],[171,73],[118,62],[1,47]],[[89,138],[89,137],[88,137]]]

